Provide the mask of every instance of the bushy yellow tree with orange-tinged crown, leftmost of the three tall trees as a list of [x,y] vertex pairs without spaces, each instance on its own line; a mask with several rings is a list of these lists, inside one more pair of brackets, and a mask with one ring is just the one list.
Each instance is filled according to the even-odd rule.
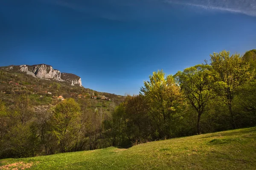
[[169,138],[172,136],[175,119],[180,117],[180,104],[183,95],[173,76],[165,77],[163,70],[153,72],[149,81],[144,82],[140,94],[145,96],[149,105],[149,116],[154,122],[155,136]]

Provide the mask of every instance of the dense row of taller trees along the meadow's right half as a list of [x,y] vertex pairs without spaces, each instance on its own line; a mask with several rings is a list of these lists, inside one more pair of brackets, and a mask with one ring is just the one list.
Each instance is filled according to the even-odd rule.
[[113,145],[256,125],[256,50],[221,51],[210,63],[165,76],[154,72],[105,122]]

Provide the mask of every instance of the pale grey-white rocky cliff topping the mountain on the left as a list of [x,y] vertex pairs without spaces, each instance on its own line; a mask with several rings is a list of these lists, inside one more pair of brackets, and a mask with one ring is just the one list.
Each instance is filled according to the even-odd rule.
[[19,70],[39,79],[55,79],[57,81],[66,81],[70,83],[70,85],[82,86],[81,78],[79,76],[70,73],[61,73],[60,71],[53,69],[50,65],[10,65],[3,68],[6,70]]

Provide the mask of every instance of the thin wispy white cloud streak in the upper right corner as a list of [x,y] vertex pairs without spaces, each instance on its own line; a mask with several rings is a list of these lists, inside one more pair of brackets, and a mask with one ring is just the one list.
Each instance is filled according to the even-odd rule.
[[163,2],[256,17],[256,0],[164,0]]

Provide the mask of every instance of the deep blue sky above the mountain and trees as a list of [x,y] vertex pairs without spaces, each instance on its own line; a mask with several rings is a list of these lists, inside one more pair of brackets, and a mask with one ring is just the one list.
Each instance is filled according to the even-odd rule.
[[48,64],[138,94],[153,71],[256,48],[256,0],[1,0],[0,66]]

